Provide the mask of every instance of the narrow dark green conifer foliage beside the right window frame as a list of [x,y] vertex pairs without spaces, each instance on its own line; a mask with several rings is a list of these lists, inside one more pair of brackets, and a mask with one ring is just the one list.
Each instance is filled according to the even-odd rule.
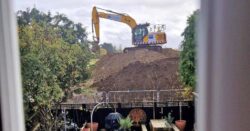
[[195,11],[187,20],[187,27],[182,36],[184,40],[180,53],[180,78],[185,87],[194,89],[196,84],[196,39],[195,26],[199,11]]

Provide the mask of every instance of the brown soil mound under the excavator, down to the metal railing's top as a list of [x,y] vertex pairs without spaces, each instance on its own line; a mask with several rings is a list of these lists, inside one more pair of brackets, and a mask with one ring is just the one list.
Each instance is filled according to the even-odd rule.
[[180,88],[178,57],[179,52],[169,48],[107,55],[97,63],[92,86],[98,91]]

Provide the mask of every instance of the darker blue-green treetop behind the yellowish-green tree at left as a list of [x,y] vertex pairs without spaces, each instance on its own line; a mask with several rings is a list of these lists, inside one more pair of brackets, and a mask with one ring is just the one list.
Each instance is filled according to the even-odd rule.
[[82,27],[81,23],[74,23],[68,19],[65,15],[57,13],[55,16],[51,16],[51,13],[47,14],[40,12],[36,8],[27,9],[26,11],[17,12],[17,22],[19,26],[30,25],[32,22],[39,23],[39,25],[51,26],[53,30],[56,30],[56,36],[63,39],[69,44],[86,44],[87,32]]

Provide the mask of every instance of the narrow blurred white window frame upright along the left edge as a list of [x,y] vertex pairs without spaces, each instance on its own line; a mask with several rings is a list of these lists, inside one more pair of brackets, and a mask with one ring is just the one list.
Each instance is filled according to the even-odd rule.
[[0,0],[0,99],[3,131],[24,131],[17,26],[12,0]]

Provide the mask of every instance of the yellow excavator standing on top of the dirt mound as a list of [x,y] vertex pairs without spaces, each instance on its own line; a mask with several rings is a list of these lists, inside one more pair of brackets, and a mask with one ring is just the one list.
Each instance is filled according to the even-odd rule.
[[117,13],[111,10],[106,10],[94,6],[92,10],[92,33],[95,34],[93,35],[93,39],[96,50],[99,49],[98,44],[100,41],[99,18],[122,22],[127,24],[131,28],[132,45],[134,45],[135,47],[125,48],[123,50],[125,53],[136,50],[138,48],[147,48],[149,50],[161,51],[162,47],[160,45],[167,43],[166,33],[164,32],[164,25],[155,25],[153,28],[149,29],[149,23],[137,24],[136,21],[127,14]]

